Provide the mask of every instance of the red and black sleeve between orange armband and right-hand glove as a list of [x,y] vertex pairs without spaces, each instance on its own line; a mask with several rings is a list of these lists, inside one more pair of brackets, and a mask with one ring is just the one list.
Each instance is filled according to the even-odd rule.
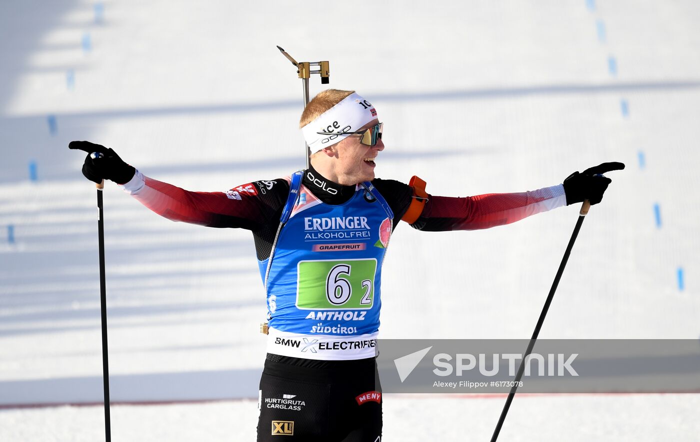
[[483,194],[465,198],[428,195],[428,202],[412,227],[425,231],[488,229],[559,206],[566,206],[562,185],[532,192]]

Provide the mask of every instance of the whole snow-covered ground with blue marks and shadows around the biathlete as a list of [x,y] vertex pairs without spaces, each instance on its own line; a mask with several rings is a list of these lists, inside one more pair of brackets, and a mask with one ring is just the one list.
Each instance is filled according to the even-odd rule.
[[[698,338],[698,22],[692,0],[1,2],[0,406],[102,400],[95,191],[68,142],[190,190],[286,175],[304,164],[301,87],[275,45],[330,60],[331,87],[377,106],[382,178],[465,196],[625,162],[540,337]],[[111,183],[104,199],[112,399],[218,401],[114,406],[114,440],[252,440],[265,304],[250,234],[169,222]],[[381,336],[528,337],[575,218],[398,227]],[[385,438],[486,440],[502,405],[387,395]],[[698,405],[517,397],[500,439],[700,440]],[[6,409],[0,441],[94,441],[102,425],[99,406]]]

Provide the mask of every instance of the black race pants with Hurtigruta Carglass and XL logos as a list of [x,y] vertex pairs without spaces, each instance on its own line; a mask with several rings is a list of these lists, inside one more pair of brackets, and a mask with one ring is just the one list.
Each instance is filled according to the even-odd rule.
[[259,442],[381,441],[381,386],[374,358],[314,361],[267,355],[259,398]]

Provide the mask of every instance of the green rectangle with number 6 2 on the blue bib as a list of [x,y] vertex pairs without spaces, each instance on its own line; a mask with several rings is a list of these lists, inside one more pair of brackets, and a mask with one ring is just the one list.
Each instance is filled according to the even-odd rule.
[[297,308],[372,308],[377,259],[301,261],[297,266]]

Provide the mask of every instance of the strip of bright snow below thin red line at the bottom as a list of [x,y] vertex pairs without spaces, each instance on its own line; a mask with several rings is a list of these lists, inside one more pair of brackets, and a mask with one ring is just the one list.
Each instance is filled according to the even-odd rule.
[[[382,441],[489,441],[503,397],[387,394]],[[499,441],[697,441],[697,394],[516,397]],[[256,400],[112,406],[113,441],[255,441]],[[3,441],[104,440],[99,406],[0,412]]]

